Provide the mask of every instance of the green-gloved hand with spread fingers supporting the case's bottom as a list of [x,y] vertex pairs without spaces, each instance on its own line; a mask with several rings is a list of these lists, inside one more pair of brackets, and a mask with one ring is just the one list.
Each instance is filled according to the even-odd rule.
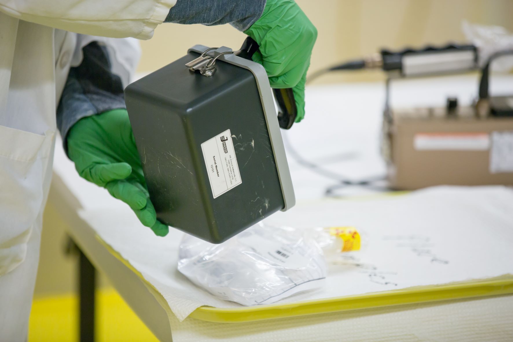
[[156,219],[125,109],[84,117],[68,133],[68,156],[83,178],[106,188],[156,235],[169,228]]

